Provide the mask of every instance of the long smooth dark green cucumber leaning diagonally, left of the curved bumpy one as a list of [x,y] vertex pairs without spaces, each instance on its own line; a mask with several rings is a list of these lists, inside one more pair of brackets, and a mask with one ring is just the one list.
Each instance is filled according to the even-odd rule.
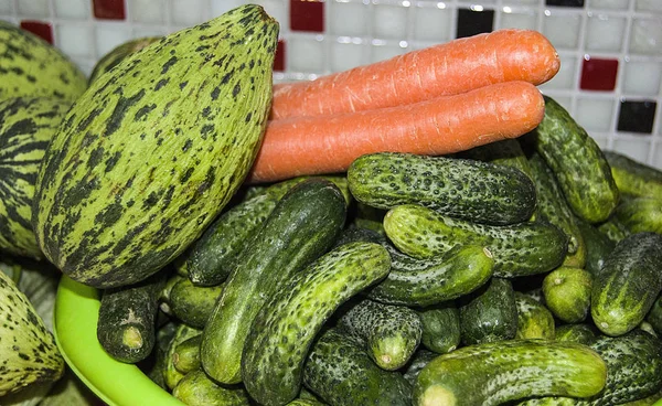
[[250,324],[292,275],[325,253],[345,221],[345,199],[330,181],[309,179],[278,202],[242,252],[202,340],[202,365],[215,381],[241,382],[242,351]]

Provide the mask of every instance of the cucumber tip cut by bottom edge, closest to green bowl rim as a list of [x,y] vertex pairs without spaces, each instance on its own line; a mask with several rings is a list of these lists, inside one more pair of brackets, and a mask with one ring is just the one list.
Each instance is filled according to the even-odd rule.
[[204,371],[188,373],[172,389],[172,396],[190,406],[249,406],[250,399],[241,386],[221,386]]

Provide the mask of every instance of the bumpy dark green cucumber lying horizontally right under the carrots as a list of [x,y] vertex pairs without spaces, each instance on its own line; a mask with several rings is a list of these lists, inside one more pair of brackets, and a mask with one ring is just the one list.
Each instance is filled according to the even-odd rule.
[[380,152],[354,160],[348,180],[357,201],[380,209],[419,204],[494,225],[525,221],[535,209],[528,177],[478,160]]

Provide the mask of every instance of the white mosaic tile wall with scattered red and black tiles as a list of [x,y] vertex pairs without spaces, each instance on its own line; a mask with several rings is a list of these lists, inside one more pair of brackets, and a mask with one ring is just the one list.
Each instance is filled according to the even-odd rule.
[[[167,34],[245,2],[0,0],[0,19],[49,24],[54,44],[89,73],[125,41]],[[562,61],[560,72],[541,89],[568,108],[600,146],[662,169],[662,0],[253,2],[281,25],[277,82],[312,79],[447,42],[467,30],[537,30]],[[108,4],[121,8],[122,15],[103,18],[97,8]]]

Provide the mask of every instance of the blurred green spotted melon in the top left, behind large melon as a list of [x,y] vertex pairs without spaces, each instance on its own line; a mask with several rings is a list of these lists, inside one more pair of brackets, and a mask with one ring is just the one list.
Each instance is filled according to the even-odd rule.
[[0,21],[0,99],[54,97],[72,103],[86,87],[83,72],[60,50]]

